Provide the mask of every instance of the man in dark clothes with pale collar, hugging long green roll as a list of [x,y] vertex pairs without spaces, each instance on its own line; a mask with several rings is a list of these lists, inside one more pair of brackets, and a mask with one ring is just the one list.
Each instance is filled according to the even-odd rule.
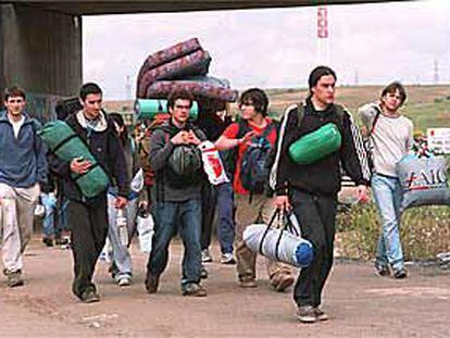
[[[129,177],[114,125],[101,110],[102,99],[102,90],[97,84],[83,85],[79,91],[83,110],[70,115],[65,122],[88,145],[99,165],[115,179],[117,186],[115,208],[122,209],[127,204]],[[71,173],[83,175],[90,166],[91,163],[83,158],[64,162],[50,155],[50,168],[63,178],[63,191],[70,200],[67,221],[72,230],[75,275],[72,290],[86,303],[100,300],[92,283],[92,275],[108,235],[107,190],[95,198],[87,199],[71,176]]]

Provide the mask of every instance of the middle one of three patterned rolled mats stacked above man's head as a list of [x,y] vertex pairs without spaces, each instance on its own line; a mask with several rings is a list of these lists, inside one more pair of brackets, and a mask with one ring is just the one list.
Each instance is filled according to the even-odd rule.
[[198,50],[180,59],[164,63],[146,72],[139,83],[137,97],[146,98],[147,88],[159,79],[179,79],[193,75],[207,75],[211,57],[204,50]]

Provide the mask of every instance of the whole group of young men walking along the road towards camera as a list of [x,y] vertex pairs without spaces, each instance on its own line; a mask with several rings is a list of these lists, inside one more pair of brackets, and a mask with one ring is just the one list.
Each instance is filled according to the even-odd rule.
[[[314,249],[311,265],[301,268],[295,284],[297,315],[303,323],[327,320],[321,308],[322,293],[333,266],[342,173],[355,183],[358,199],[362,202],[368,200],[368,187],[372,187],[383,223],[376,252],[377,272],[383,276],[407,277],[399,238],[401,190],[395,171],[396,163],[412,147],[412,123],[399,113],[407,99],[405,90],[399,83],[392,83],[383,90],[378,101],[360,109],[361,132],[371,145],[367,147],[351,114],[335,102],[336,82],[332,68],[315,67],[309,76],[308,98],[288,108],[279,123],[267,116],[268,98],[259,88],[241,93],[239,122],[225,122],[221,114],[211,115],[214,117],[210,122],[201,118],[192,122],[189,120],[191,95],[185,91],[170,95],[170,118],[154,125],[145,140],[147,161],[154,173],[151,203],[148,203],[155,223],[145,281],[149,293],[159,289],[168,262],[171,239],[178,234],[185,247],[182,292],[207,296],[201,279],[207,275],[203,263],[211,260],[208,249],[214,209],[218,212],[221,261],[237,263],[240,287],[258,287],[257,253],[246,246],[243,230],[257,221],[268,223],[277,209],[290,210],[299,220],[302,236]],[[123,120],[105,114],[101,109],[102,99],[98,85],[85,84],[79,93],[82,109],[65,120],[88,146],[97,162],[92,164],[84,158],[65,162],[47,151],[37,134],[39,126],[25,112],[25,92],[16,87],[5,92],[5,110],[0,115],[0,205],[2,259],[11,287],[23,285],[22,253],[29,241],[34,205],[48,172],[61,179],[64,197],[70,201],[73,292],[83,302],[99,300],[92,276],[108,236],[113,246],[111,272],[118,285],[130,283],[129,252],[114,225],[118,210],[125,210],[129,224],[136,217],[142,187],[136,188],[133,181],[140,168],[139,159],[134,155],[136,147],[127,136]],[[296,163],[289,155],[289,147],[329,123],[340,134],[340,147],[314,163]],[[214,128],[216,124],[221,125],[218,132]],[[246,186],[241,174],[247,170],[242,163],[255,138],[264,139],[271,149],[265,160],[266,184],[261,189]],[[204,140],[213,141],[221,151],[229,183],[209,184],[203,166],[193,160],[189,162],[189,173],[182,173],[186,165],[180,165],[177,158],[189,151],[193,157]],[[88,199],[73,176],[88,173],[92,165],[100,165],[107,172],[111,187]],[[276,291],[286,290],[296,280],[292,266],[266,259],[266,267]]]

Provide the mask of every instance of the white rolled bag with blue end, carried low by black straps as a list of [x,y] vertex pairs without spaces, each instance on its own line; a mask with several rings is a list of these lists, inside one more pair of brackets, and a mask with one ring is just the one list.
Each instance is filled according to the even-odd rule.
[[252,224],[243,230],[243,241],[251,251],[297,267],[311,264],[314,252],[309,240],[288,230],[267,227],[265,224]]

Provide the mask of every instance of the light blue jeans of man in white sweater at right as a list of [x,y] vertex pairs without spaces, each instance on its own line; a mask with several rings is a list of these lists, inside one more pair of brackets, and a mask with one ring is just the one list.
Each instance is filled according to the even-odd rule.
[[403,252],[400,243],[400,206],[402,192],[396,177],[374,174],[372,190],[383,223],[382,235],[376,250],[376,264],[390,264],[395,271],[403,267]]

